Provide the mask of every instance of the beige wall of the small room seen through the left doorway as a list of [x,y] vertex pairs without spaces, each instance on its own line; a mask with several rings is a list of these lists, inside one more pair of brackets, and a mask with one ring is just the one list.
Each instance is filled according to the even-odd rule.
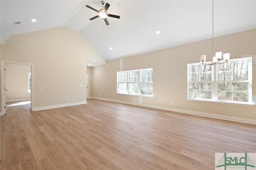
[[5,68],[6,101],[30,100],[28,73],[31,73],[31,66],[6,63]]

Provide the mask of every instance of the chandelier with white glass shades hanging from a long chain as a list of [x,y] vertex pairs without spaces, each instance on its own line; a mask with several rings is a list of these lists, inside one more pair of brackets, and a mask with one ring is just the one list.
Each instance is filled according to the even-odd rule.
[[213,19],[214,19],[214,13],[213,13],[213,7],[214,3],[212,0],[212,63],[206,63],[206,55],[201,55],[201,64],[202,65],[214,65],[214,64],[222,64],[226,63],[229,60],[229,53],[223,54],[223,60],[221,61],[220,59],[222,58],[222,52],[216,52],[215,56],[213,55],[213,44],[214,44],[214,25],[213,25]]

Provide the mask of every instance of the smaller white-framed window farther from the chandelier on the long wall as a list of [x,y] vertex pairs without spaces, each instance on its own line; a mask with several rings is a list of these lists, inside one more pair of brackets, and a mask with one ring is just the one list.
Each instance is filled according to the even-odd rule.
[[153,95],[153,69],[117,72],[117,93]]

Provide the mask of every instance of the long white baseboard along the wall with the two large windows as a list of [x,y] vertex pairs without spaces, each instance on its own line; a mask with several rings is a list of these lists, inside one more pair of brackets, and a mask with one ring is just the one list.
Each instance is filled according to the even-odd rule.
[[197,115],[197,116],[202,116],[202,117],[210,117],[210,118],[222,119],[222,120],[226,120],[226,121],[233,121],[233,122],[239,122],[239,123],[246,123],[246,124],[256,125],[256,121],[252,120],[252,119],[244,119],[244,118],[239,118],[239,117],[230,117],[230,116],[216,115],[216,114],[211,114],[211,113],[203,113],[203,112],[188,111],[188,110],[175,109],[175,108],[169,108],[169,107],[146,105],[146,104],[133,103],[133,102],[128,102],[128,101],[119,101],[119,100],[114,100],[114,99],[105,99],[105,98],[100,98],[100,97],[92,97],[92,99],[98,99],[98,100],[104,100],[104,101],[112,101],[112,102],[124,103],[124,104],[128,104],[128,105],[148,107],[148,108],[152,108],[152,109],[160,109],[160,110],[165,110],[165,111],[173,111],[173,112],[178,112],[178,113],[186,113],[186,114],[189,114],[189,115]]

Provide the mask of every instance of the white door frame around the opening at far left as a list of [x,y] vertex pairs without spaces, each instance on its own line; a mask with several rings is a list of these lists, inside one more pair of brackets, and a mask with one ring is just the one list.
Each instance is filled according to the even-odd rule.
[[34,111],[34,64],[32,63],[18,63],[18,62],[12,62],[12,61],[1,61],[1,115],[4,115],[4,106],[6,103],[6,97],[4,96],[4,65],[5,63],[11,63],[11,64],[20,64],[20,65],[30,65],[31,66],[31,103],[30,103],[30,109]]

